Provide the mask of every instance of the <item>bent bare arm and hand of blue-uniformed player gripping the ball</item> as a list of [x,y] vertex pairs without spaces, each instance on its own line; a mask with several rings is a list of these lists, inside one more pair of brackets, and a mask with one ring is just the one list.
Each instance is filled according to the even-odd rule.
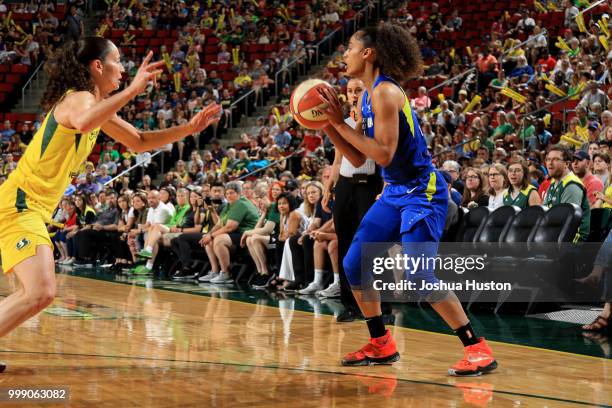
[[[327,89],[320,92],[321,97],[328,104],[325,114],[342,139],[362,156],[372,158],[383,167],[389,165],[393,160],[399,139],[398,98],[403,100],[404,97],[401,91],[397,87],[381,84],[372,93],[372,108],[375,115],[374,138],[369,138],[344,123],[340,101],[334,92]],[[345,154],[342,149],[341,152],[353,163],[349,155]],[[356,164],[353,163],[353,165]]]

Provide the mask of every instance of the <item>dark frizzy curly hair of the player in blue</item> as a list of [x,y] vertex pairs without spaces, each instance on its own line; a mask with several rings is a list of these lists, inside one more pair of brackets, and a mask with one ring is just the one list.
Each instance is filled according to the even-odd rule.
[[391,23],[366,27],[356,33],[365,48],[376,50],[375,66],[397,81],[417,76],[423,69],[421,50],[405,28]]

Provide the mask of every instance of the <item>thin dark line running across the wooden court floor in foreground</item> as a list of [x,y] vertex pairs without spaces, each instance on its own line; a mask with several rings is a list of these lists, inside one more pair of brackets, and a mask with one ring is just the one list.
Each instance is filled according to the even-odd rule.
[[[244,363],[229,363],[229,362],[221,362],[221,361],[201,361],[201,360],[177,360],[177,359],[171,359],[171,358],[156,358],[156,357],[141,357],[141,356],[117,356],[117,355],[106,355],[106,354],[82,354],[82,353],[59,353],[59,352],[46,352],[46,351],[19,351],[19,350],[0,350],[0,353],[11,353],[11,354],[34,354],[34,355],[56,355],[56,356],[70,356],[70,357],[98,357],[98,358],[116,358],[116,359],[121,359],[121,360],[140,360],[140,361],[162,361],[162,362],[167,362],[167,363],[188,363],[188,364],[201,364],[201,365],[222,365],[222,366],[231,366],[231,367],[250,367],[250,368],[266,368],[266,369],[271,369],[271,370],[285,370],[285,371],[297,371],[297,372],[310,372],[310,373],[317,373],[317,374],[332,374],[332,375],[344,375],[344,376],[349,376],[349,377],[368,377],[368,378],[375,378],[375,379],[381,379],[381,380],[388,380],[388,377],[384,377],[384,376],[378,376],[378,375],[362,375],[362,373],[359,373],[359,375],[357,374],[352,374],[352,373],[347,373],[347,372],[342,372],[342,371],[328,371],[328,370],[321,370],[321,369],[303,369],[303,368],[298,368],[298,367],[281,367],[281,366],[275,366],[275,365],[266,365],[266,364],[244,364]],[[486,376],[485,376],[486,377]],[[460,377],[458,377],[460,378]],[[484,377],[477,377],[477,378],[484,378]],[[433,382],[433,381],[423,381],[423,380],[411,380],[409,378],[396,378],[397,381],[401,381],[401,382],[407,382],[407,383],[411,383],[411,384],[422,384],[422,385],[433,385],[433,386],[439,386],[439,387],[445,387],[445,388],[452,388],[452,389],[460,389],[457,386],[453,385],[453,384],[444,384],[444,383],[438,383],[438,382]],[[483,390],[481,388],[478,387],[474,387],[474,389],[478,389],[478,390]],[[487,390],[488,391],[488,390]],[[546,401],[556,401],[556,402],[565,402],[565,403],[570,403],[570,404],[576,404],[576,405],[586,405],[586,406],[598,406],[598,407],[612,407],[610,405],[605,405],[605,404],[597,404],[594,402],[586,402],[586,401],[575,401],[575,400],[568,400],[568,399],[564,399],[564,398],[557,398],[557,397],[548,397],[545,395],[538,395],[538,394],[525,394],[525,393],[521,393],[521,392],[514,392],[514,391],[504,391],[504,390],[491,390],[493,393],[497,393],[497,394],[503,394],[503,395],[509,395],[509,396],[515,396],[515,397],[527,397],[527,398],[534,398],[534,399],[541,399],[541,400],[546,400]]]

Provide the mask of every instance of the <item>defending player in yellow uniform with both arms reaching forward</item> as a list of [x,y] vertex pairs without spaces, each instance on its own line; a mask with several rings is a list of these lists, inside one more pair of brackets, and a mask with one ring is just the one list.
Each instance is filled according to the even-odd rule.
[[[69,42],[47,61],[43,105],[48,114],[8,180],[0,186],[0,253],[4,273],[21,287],[0,302],[0,337],[34,316],[55,297],[53,250],[45,222],[104,133],[136,152],[151,150],[204,130],[219,121],[221,107],[208,105],[188,123],[142,132],[117,116],[161,74],[163,61],[143,60],[132,83],[119,89],[124,68],[109,40]],[[0,364],[0,372],[5,365]]]

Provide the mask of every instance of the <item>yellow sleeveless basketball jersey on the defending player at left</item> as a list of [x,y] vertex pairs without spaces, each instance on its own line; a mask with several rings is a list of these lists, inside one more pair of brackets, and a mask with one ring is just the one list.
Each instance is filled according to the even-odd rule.
[[[57,123],[53,108],[32,138],[17,168],[0,187],[0,197],[15,197],[15,202],[1,200],[1,210],[13,206],[41,212],[49,220],[72,178],[96,144],[100,128],[81,134]],[[16,190],[16,191],[13,191]]]

